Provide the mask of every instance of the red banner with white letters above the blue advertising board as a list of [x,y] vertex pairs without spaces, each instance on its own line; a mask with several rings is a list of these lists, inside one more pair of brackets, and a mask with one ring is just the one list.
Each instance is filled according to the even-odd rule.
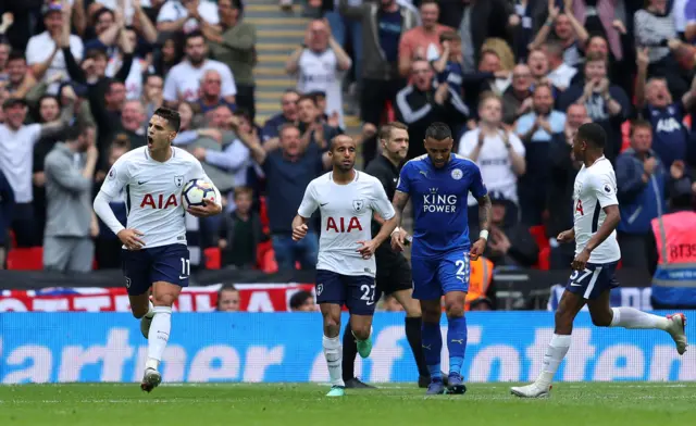
[[[222,285],[186,287],[174,304],[176,312],[211,312],[217,304]],[[299,290],[314,293],[311,284],[235,284],[240,311],[289,311],[293,295]],[[45,288],[41,290],[0,291],[0,312],[130,312],[125,288]]]

